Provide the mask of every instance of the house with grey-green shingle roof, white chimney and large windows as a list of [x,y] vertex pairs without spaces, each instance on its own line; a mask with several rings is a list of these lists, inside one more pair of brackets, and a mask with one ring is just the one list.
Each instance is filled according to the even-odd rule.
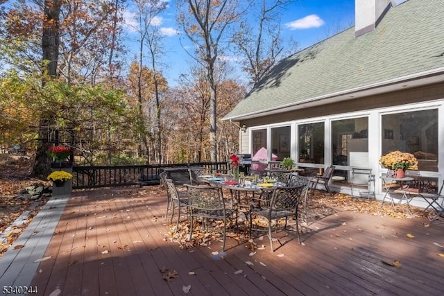
[[[436,191],[444,162],[442,0],[356,0],[355,26],[280,61],[224,117],[246,125],[241,153],[267,148],[301,168],[336,166],[331,188],[350,193],[352,166],[372,168],[382,198],[393,150],[419,160]],[[289,144],[288,144],[289,143]]]

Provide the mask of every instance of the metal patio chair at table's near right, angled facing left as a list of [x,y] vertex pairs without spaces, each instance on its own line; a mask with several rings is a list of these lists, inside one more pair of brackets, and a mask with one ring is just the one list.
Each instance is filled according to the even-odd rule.
[[[296,223],[296,233],[298,241],[300,241],[299,223],[298,223],[298,209],[301,199],[307,197],[307,192],[310,186],[310,179],[307,177],[297,178],[296,186],[276,187],[273,189],[271,200],[262,200],[262,205],[259,209],[252,209],[252,214],[262,216],[267,220],[268,238],[270,240],[271,252],[274,252],[272,229],[277,232],[278,229],[287,229],[288,218],[293,216]],[[285,218],[285,224],[280,226],[280,220]],[[273,224],[272,221],[275,220]],[[253,216],[250,218],[250,233],[253,229]],[[279,240],[280,245],[283,245]]]

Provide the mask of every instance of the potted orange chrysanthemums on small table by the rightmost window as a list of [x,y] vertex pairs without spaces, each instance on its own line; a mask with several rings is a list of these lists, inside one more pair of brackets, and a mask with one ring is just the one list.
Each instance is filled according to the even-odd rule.
[[402,178],[405,176],[405,170],[417,170],[418,159],[411,153],[401,152],[399,150],[392,151],[379,158],[379,163],[391,171],[395,171],[395,176]]

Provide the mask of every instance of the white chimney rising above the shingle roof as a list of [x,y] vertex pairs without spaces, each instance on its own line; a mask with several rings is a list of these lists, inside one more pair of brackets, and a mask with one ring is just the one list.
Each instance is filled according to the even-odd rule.
[[355,37],[375,30],[391,6],[391,0],[355,0]]

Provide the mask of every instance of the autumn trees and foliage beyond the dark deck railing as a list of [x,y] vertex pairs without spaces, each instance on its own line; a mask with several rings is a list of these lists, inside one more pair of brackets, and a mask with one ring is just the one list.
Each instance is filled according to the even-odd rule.
[[[58,143],[73,148],[78,164],[227,160],[238,150],[239,126],[221,118],[288,54],[279,12],[290,2],[176,0],[194,62],[169,87],[155,24],[167,2],[0,0],[0,150],[23,145],[35,155],[34,176],[46,174],[46,151]],[[139,34],[131,60],[128,6],[136,8]],[[247,85],[230,79],[228,49]]]

